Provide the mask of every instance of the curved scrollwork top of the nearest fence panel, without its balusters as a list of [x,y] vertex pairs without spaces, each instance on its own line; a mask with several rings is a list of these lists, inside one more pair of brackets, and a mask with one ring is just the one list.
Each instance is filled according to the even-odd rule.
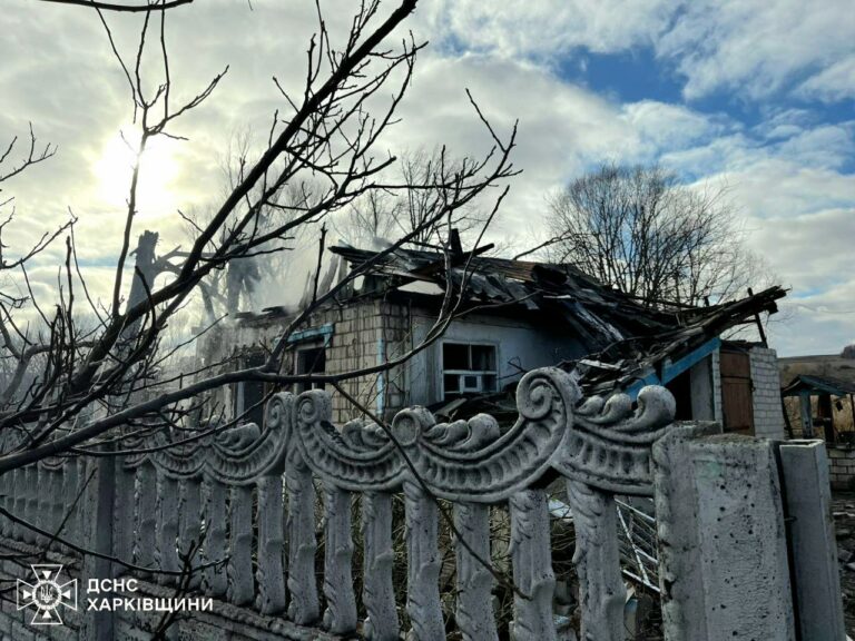
[[296,441],[315,474],[354,492],[419,480],[436,497],[495,503],[551,469],[607,492],[652,494],[650,450],[672,421],[670,393],[646,387],[635,408],[623,394],[577,407],[580,398],[569,374],[543,368],[520,382],[520,416],[504,434],[487,414],[436,423],[421,407],[400,412],[391,433],[361,423],[338,432],[327,394],[311,391],[297,400]]

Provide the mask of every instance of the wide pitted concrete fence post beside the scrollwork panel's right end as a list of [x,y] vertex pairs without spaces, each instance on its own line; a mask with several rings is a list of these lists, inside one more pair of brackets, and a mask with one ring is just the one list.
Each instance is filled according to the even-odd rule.
[[676,427],[653,445],[653,487],[666,640],[794,641],[773,442]]

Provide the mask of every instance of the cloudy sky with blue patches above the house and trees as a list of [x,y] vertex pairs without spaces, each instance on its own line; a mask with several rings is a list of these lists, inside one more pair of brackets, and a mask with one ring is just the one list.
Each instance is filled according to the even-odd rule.
[[[354,3],[322,6],[340,33]],[[108,20],[131,59],[139,17]],[[58,147],[2,186],[0,203],[13,196],[16,208],[6,255],[71,211],[81,267],[94,294],[107,296],[130,164],[121,136],[134,132],[122,72],[89,9],[7,0],[0,27],[0,146],[32,124]],[[188,140],[147,154],[136,233],[180,243],[176,210],[222,199],[229,141],[266,132],[284,107],[272,77],[299,82],[315,28],[309,0],[196,0],[169,13],[176,100],[229,70],[176,127]],[[658,162],[687,184],[727,187],[748,247],[789,288],[769,326],[779,355],[855,343],[851,0],[422,0],[405,28],[430,45],[383,140],[390,151],[483,152],[466,89],[498,130],[519,120],[522,174],[494,239],[523,248],[543,239],[548,195],[603,161]],[[61,259],[60,243],[31,269],[42,300],[56,297]]]

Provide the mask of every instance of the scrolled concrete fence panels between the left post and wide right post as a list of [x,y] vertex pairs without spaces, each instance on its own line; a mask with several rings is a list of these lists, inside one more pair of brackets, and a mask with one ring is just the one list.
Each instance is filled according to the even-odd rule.
[[[582,400],[570,374],[543,368],[520,381],[517,406],[519,418],[508,430],[487,414],[440,423],[423,407],[400,412],[389,427],[353,421],[337,428],[330,395],[315,389],[275,394],[261,426],[156,431],[117,465],[116,504],[122,507],[114,523],[115,552],[150,568],[144,578],[168,584],[198,541],[196,562],[205,566],[193,589],[340,635],[360,628],[353,575],[361,571],[362,632],[391,641],[401,633],[392,536],[399,495],[409,638],[439,639],[446,614],[438,585],[440,499],[453,505],[456,625],[466,640],[494,641],[490,511],[505,504],[517,590],[511,630],[519,639],[551,639],[556,576],[546,486],[563,477],[577,527],[583,639],[622,641],[613,494],[652,494],[651,446],[672,421],[674,398],[647,387],[635,404],[620,394]],[[16,472],[14,482],[26,489],[43,479],[58,486],[65,476],[77,484],[78,467],[73,458],[47,461]],[[47,512],[56,522],[57,506],[37,505],[35,496],[23,492],[23,513]],[[352,568],[354,496],[364,538],[361,570]],[[18,506],[12,503],[7,499]],[[323,582],[315,559],[321,532]]]

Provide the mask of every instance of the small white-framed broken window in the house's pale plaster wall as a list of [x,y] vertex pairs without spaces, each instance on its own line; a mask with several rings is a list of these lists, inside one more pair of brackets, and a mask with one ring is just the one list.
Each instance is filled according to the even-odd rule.
[[495,345],[442,344],[442,397],[497,391]]

